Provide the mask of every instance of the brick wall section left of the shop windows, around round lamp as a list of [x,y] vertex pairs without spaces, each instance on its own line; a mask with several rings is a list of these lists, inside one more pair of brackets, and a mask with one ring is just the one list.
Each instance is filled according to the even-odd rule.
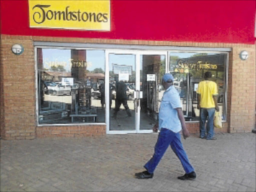
[[[15,55],[13,44],[24,52]],[[1,35],[0,125],[3,139],[35,138],[34,48],[30,36]]]

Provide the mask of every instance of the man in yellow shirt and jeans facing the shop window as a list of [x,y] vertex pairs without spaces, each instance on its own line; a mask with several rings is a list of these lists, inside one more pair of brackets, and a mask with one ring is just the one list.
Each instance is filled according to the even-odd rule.
[[[200,138],[206,136],[207,140],[215,140],[213,119],[215,110],[219,111],[217,105],[217,84],[209,80],[211,72],[204,73],[204,80],[200,81],[197,88],[197,108],[200,109]],[[205,121],[207,120],[206,133]]]

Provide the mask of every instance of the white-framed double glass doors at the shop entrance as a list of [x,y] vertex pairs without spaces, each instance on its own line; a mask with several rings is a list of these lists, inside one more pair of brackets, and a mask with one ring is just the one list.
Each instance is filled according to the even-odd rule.
[[109,121],[107,133],[150,133],[163,93],[160,85],[166,55],[147,52],[108,53]]

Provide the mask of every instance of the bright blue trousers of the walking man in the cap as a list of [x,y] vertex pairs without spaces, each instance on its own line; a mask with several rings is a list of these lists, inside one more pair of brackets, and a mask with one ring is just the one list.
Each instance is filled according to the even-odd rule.
[[179,158],[183,169],[186,173],[194,171],[194,168],[190,164],[186,152],[182,146],[181,140],[180,140],[180,133],[173,132],[167,128],[161,128],[160,132],[158,134],[157,141],[154,146],[154,154],[150,160],[147,161],[147,163],[144,165],[144,168],[149,172],[153,173],[154,169],[156,168],[157,164],[161,160],[164,152],[170,145],[173,152],[177,155]]

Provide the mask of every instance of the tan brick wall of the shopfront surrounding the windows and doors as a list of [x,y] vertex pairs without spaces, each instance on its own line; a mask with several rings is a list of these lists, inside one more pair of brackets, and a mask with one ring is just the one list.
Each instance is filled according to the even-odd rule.
[[[250,132],[255,127],[255,44],[1,35],[0,133],[3,139],[105,134],[105,125],[36,126],[33,41],[230,47],[232,51],[229,53],[228,65],[227,122],[223,123],[221,129],[215,130],[216,132]],[[11,45],[15,43],[24,46],[21,55],[14,55],[11,52]],[[249,52],[249,58],[245,61],[239,59],[241,50]],[[198,133],[198,123],[187,122],[187,126],[191,133]]]

